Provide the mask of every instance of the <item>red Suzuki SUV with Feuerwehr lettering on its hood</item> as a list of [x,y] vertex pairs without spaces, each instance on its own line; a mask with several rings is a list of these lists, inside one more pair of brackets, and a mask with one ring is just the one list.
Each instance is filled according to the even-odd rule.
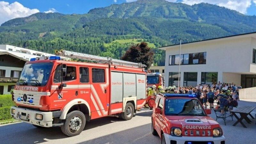
[[218,122],[204,109],[194,94],[159,93],[152,114],[152,134],[161,143],[225,144]]

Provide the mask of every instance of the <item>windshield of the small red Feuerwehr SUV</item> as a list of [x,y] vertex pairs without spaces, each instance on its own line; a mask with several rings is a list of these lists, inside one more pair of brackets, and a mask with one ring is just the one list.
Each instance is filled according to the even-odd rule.
[[197,99],[166,99],[165,115],[206,116]]

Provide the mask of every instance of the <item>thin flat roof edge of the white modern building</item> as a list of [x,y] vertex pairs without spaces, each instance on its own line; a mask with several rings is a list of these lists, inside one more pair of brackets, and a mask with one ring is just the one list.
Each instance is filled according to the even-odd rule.
[[[226,36],[226,37],[220,37],[220,38],[214,38],[214,39],[208,39],[208,40],[200,40],[200,41],[193,41],[193,42],[187,42],[187,43],[182,43],[182,45],[189,45],[189,44],[199,44],[199,43],[207,43],[209,41],[220,41],[220,40],[231,40],[231,39],[240,39],[240,38],[255,38],[256,39],[256,32],[251,32],[251,33],[244,33],[244,34],[239,34],[239,35],[232,35],[232,36]],[[164,46],[164,47],[159,47],[159,49],[166,50],[169,48],[177,48],[179,47],[180,44],[176,45],[170,45],[170,46]]]

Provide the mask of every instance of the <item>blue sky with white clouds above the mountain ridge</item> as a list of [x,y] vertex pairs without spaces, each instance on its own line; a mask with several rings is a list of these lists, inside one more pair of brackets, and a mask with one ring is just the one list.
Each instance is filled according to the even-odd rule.
[[[84,14],[93,8],[106,7],[137,0],[0,0],[0,24],[12,18],[26,17],[36,12]],[[256,0],[166,0],[193,5],[201,2],[224,6],[246,15],[256,15]]]

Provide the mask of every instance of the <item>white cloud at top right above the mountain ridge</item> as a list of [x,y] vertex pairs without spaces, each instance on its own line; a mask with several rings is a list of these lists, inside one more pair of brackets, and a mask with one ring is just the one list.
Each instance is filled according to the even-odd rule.
[[[254,0],[256,2],[256,0]],[[193,5],[199,3],[216,4],[246,14],[252,0],[182,0],[182,3]]]

